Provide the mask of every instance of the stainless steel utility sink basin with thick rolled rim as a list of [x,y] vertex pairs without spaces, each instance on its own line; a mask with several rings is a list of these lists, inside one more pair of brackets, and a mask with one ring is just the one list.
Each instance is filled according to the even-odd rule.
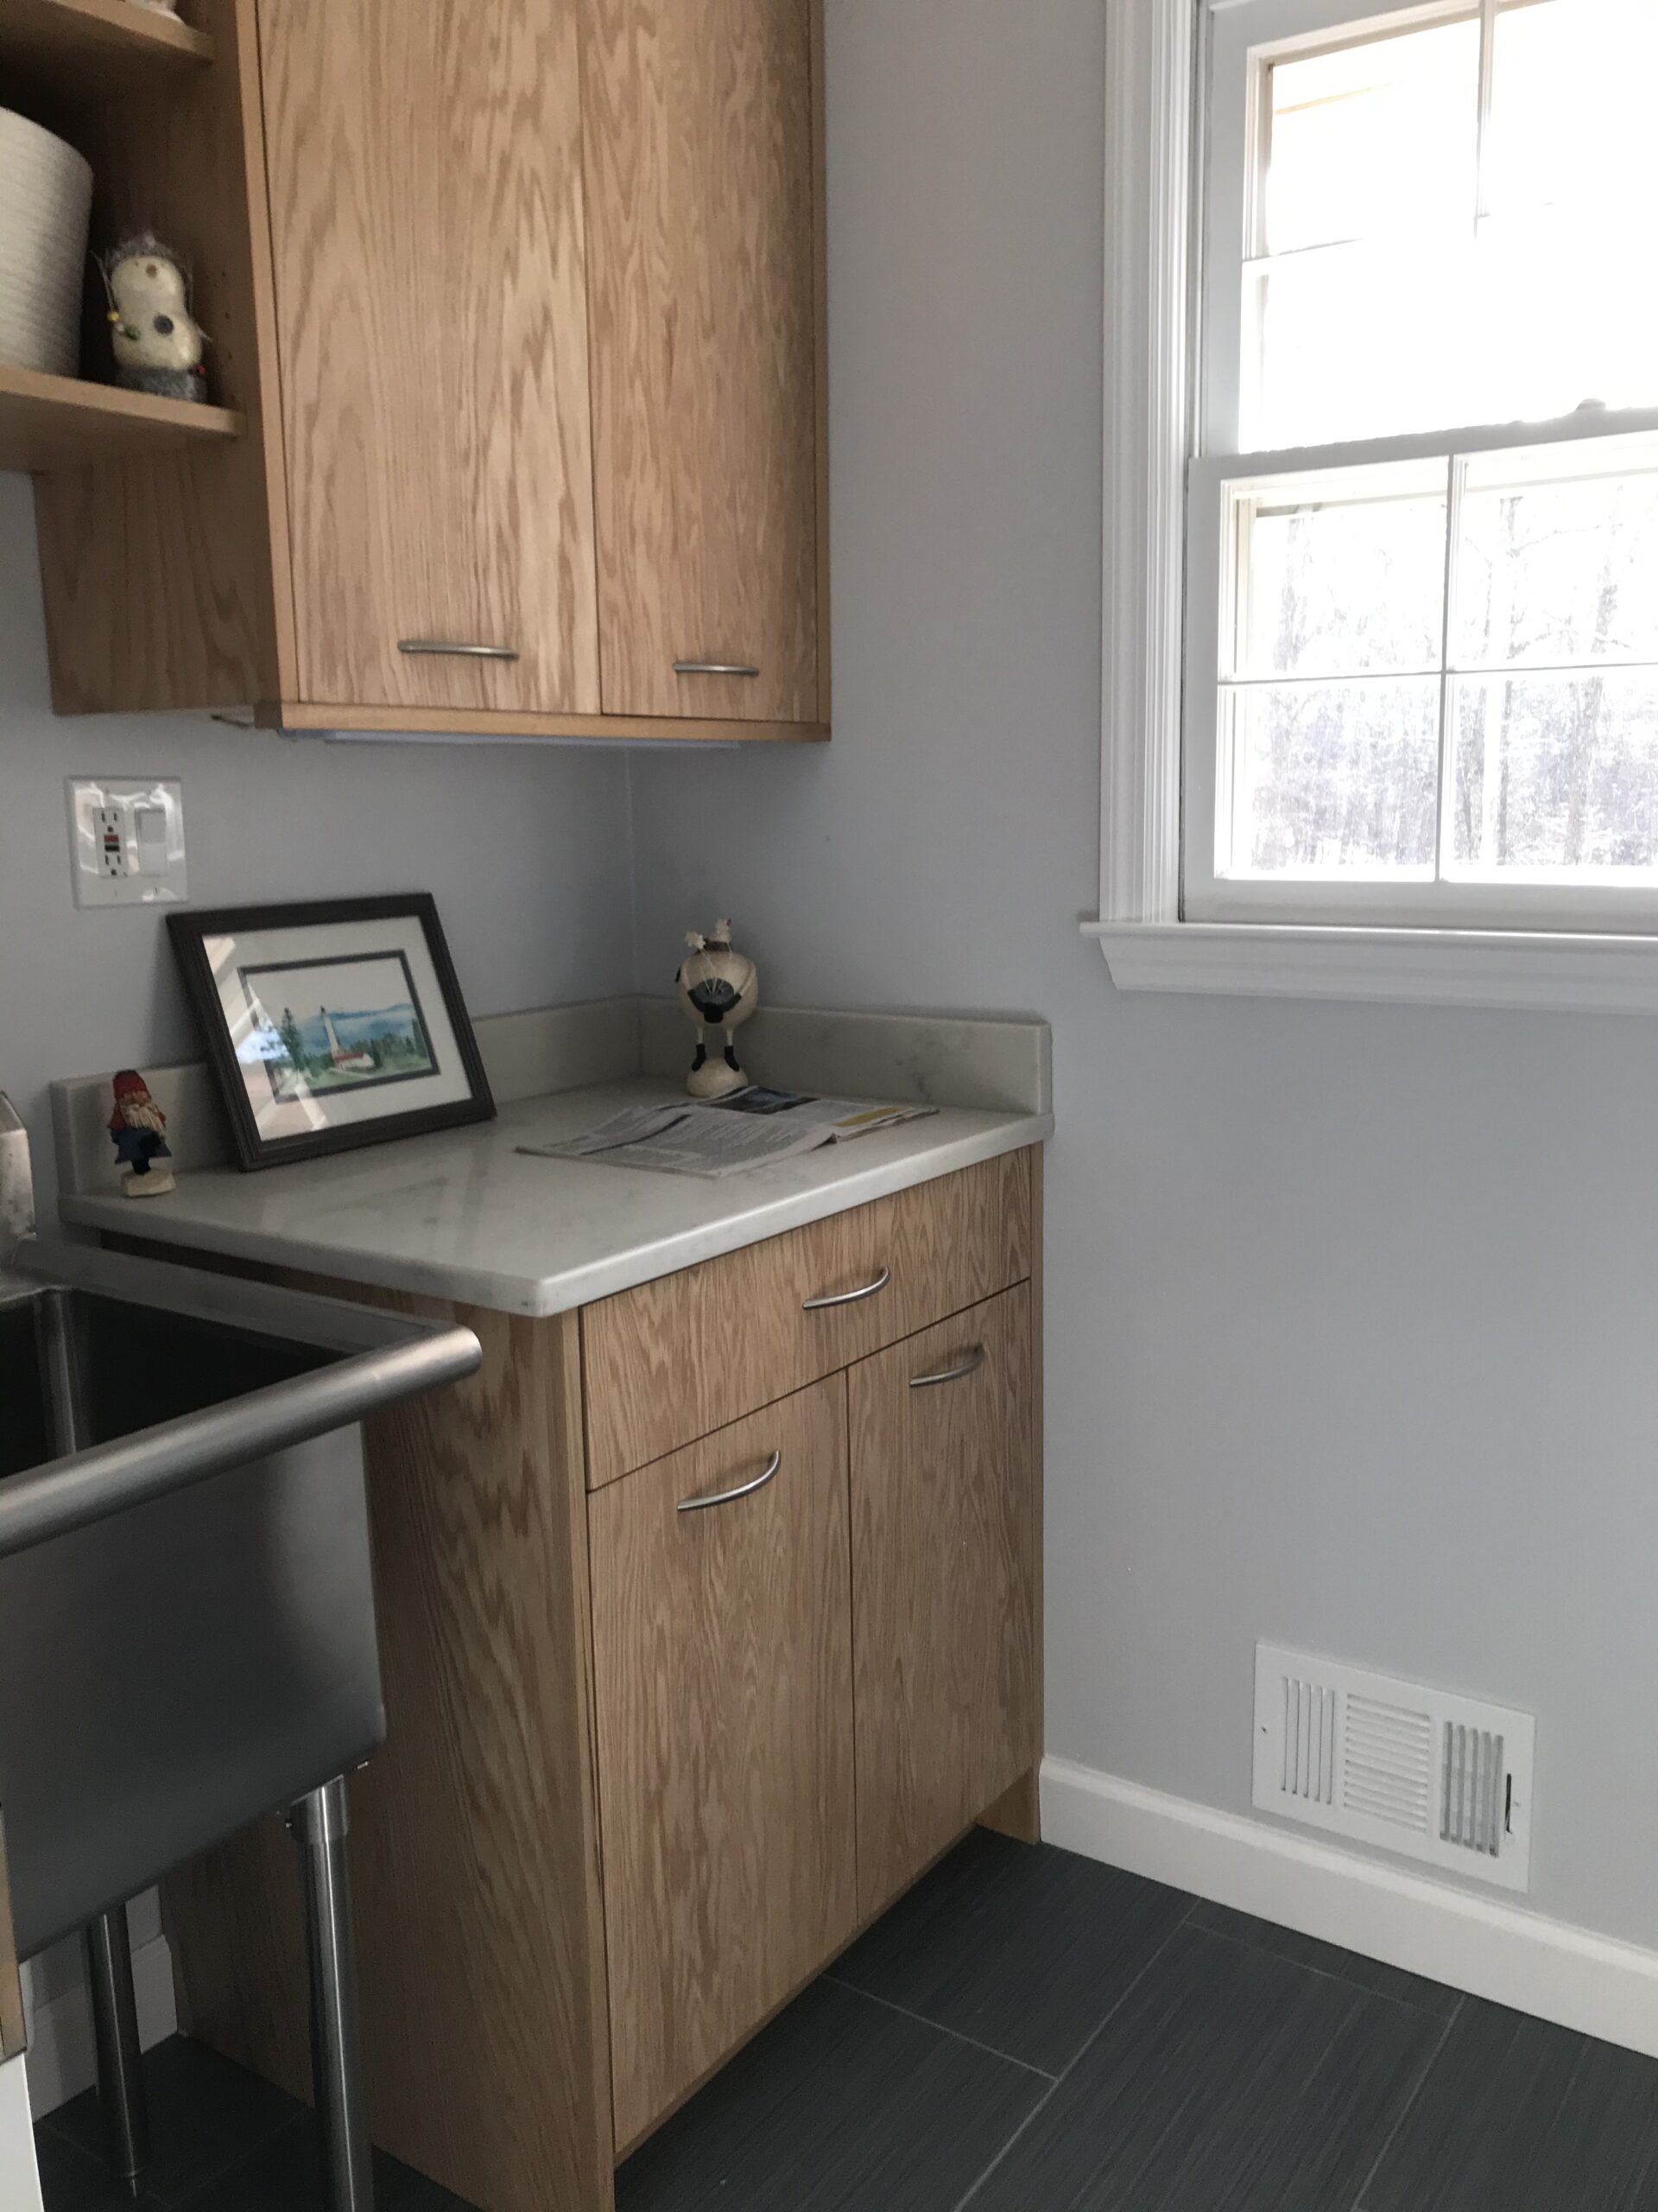
[[385,1739],[360,1420],[469,1329],[117,1254],[0,1272],[0,1805],[18,1951]]

